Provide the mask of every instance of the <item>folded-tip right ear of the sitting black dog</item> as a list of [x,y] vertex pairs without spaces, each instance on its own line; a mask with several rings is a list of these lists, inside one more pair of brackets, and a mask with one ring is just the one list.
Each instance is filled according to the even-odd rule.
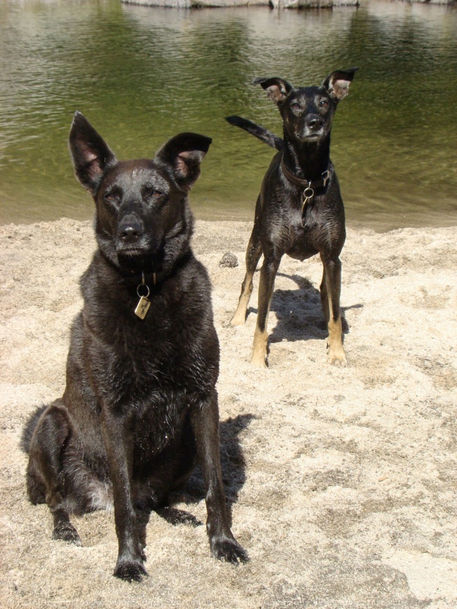
[[212,141],[198,133],[179,133],[163,144],[154,161],[171,167],[179,186],[188,191],[200,175],[200,163]]

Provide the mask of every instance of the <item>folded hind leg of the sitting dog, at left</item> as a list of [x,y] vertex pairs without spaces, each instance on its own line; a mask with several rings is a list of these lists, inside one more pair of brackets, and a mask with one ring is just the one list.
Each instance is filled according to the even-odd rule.
[[42,414],[30,440],[27,491],[32,503],[46,501],[53,514],[53,538],[81,545],[70,522],[65,495],[63,454],[70,424],[63,405],[54,403]]

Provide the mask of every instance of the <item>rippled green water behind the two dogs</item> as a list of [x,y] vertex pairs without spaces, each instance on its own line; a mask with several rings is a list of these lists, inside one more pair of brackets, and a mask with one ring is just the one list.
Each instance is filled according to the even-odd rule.
[[281,133],[257,76],[294,85],[360,66],[332,132],[348,224],[457,223],[457,9],[174,10],[119,0],[0,0],[0,221],[91,218],[66,137],[83,112],[121,159],[180,131],[213,137],[197,218],[251,220],[273,151],[224,121]]

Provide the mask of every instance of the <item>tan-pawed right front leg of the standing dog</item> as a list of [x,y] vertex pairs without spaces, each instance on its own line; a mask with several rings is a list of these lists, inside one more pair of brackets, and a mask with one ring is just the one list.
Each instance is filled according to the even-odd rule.
[[334,366],[346,366],[348,360],[343,348],[343,328],[339,298],[341,292],[341,261],[323,258],[322,306],[328,324],[328,361]]

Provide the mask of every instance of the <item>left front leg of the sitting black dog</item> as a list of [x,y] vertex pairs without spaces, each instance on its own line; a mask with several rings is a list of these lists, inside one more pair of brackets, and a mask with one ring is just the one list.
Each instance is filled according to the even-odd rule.
[[119,545],[114,575],[127,581],[140,581],[147,572],[143,566],[132,497],[134,442],[131,423],[129,416],[102,410],[103,441],[113,484],[114,522]]

